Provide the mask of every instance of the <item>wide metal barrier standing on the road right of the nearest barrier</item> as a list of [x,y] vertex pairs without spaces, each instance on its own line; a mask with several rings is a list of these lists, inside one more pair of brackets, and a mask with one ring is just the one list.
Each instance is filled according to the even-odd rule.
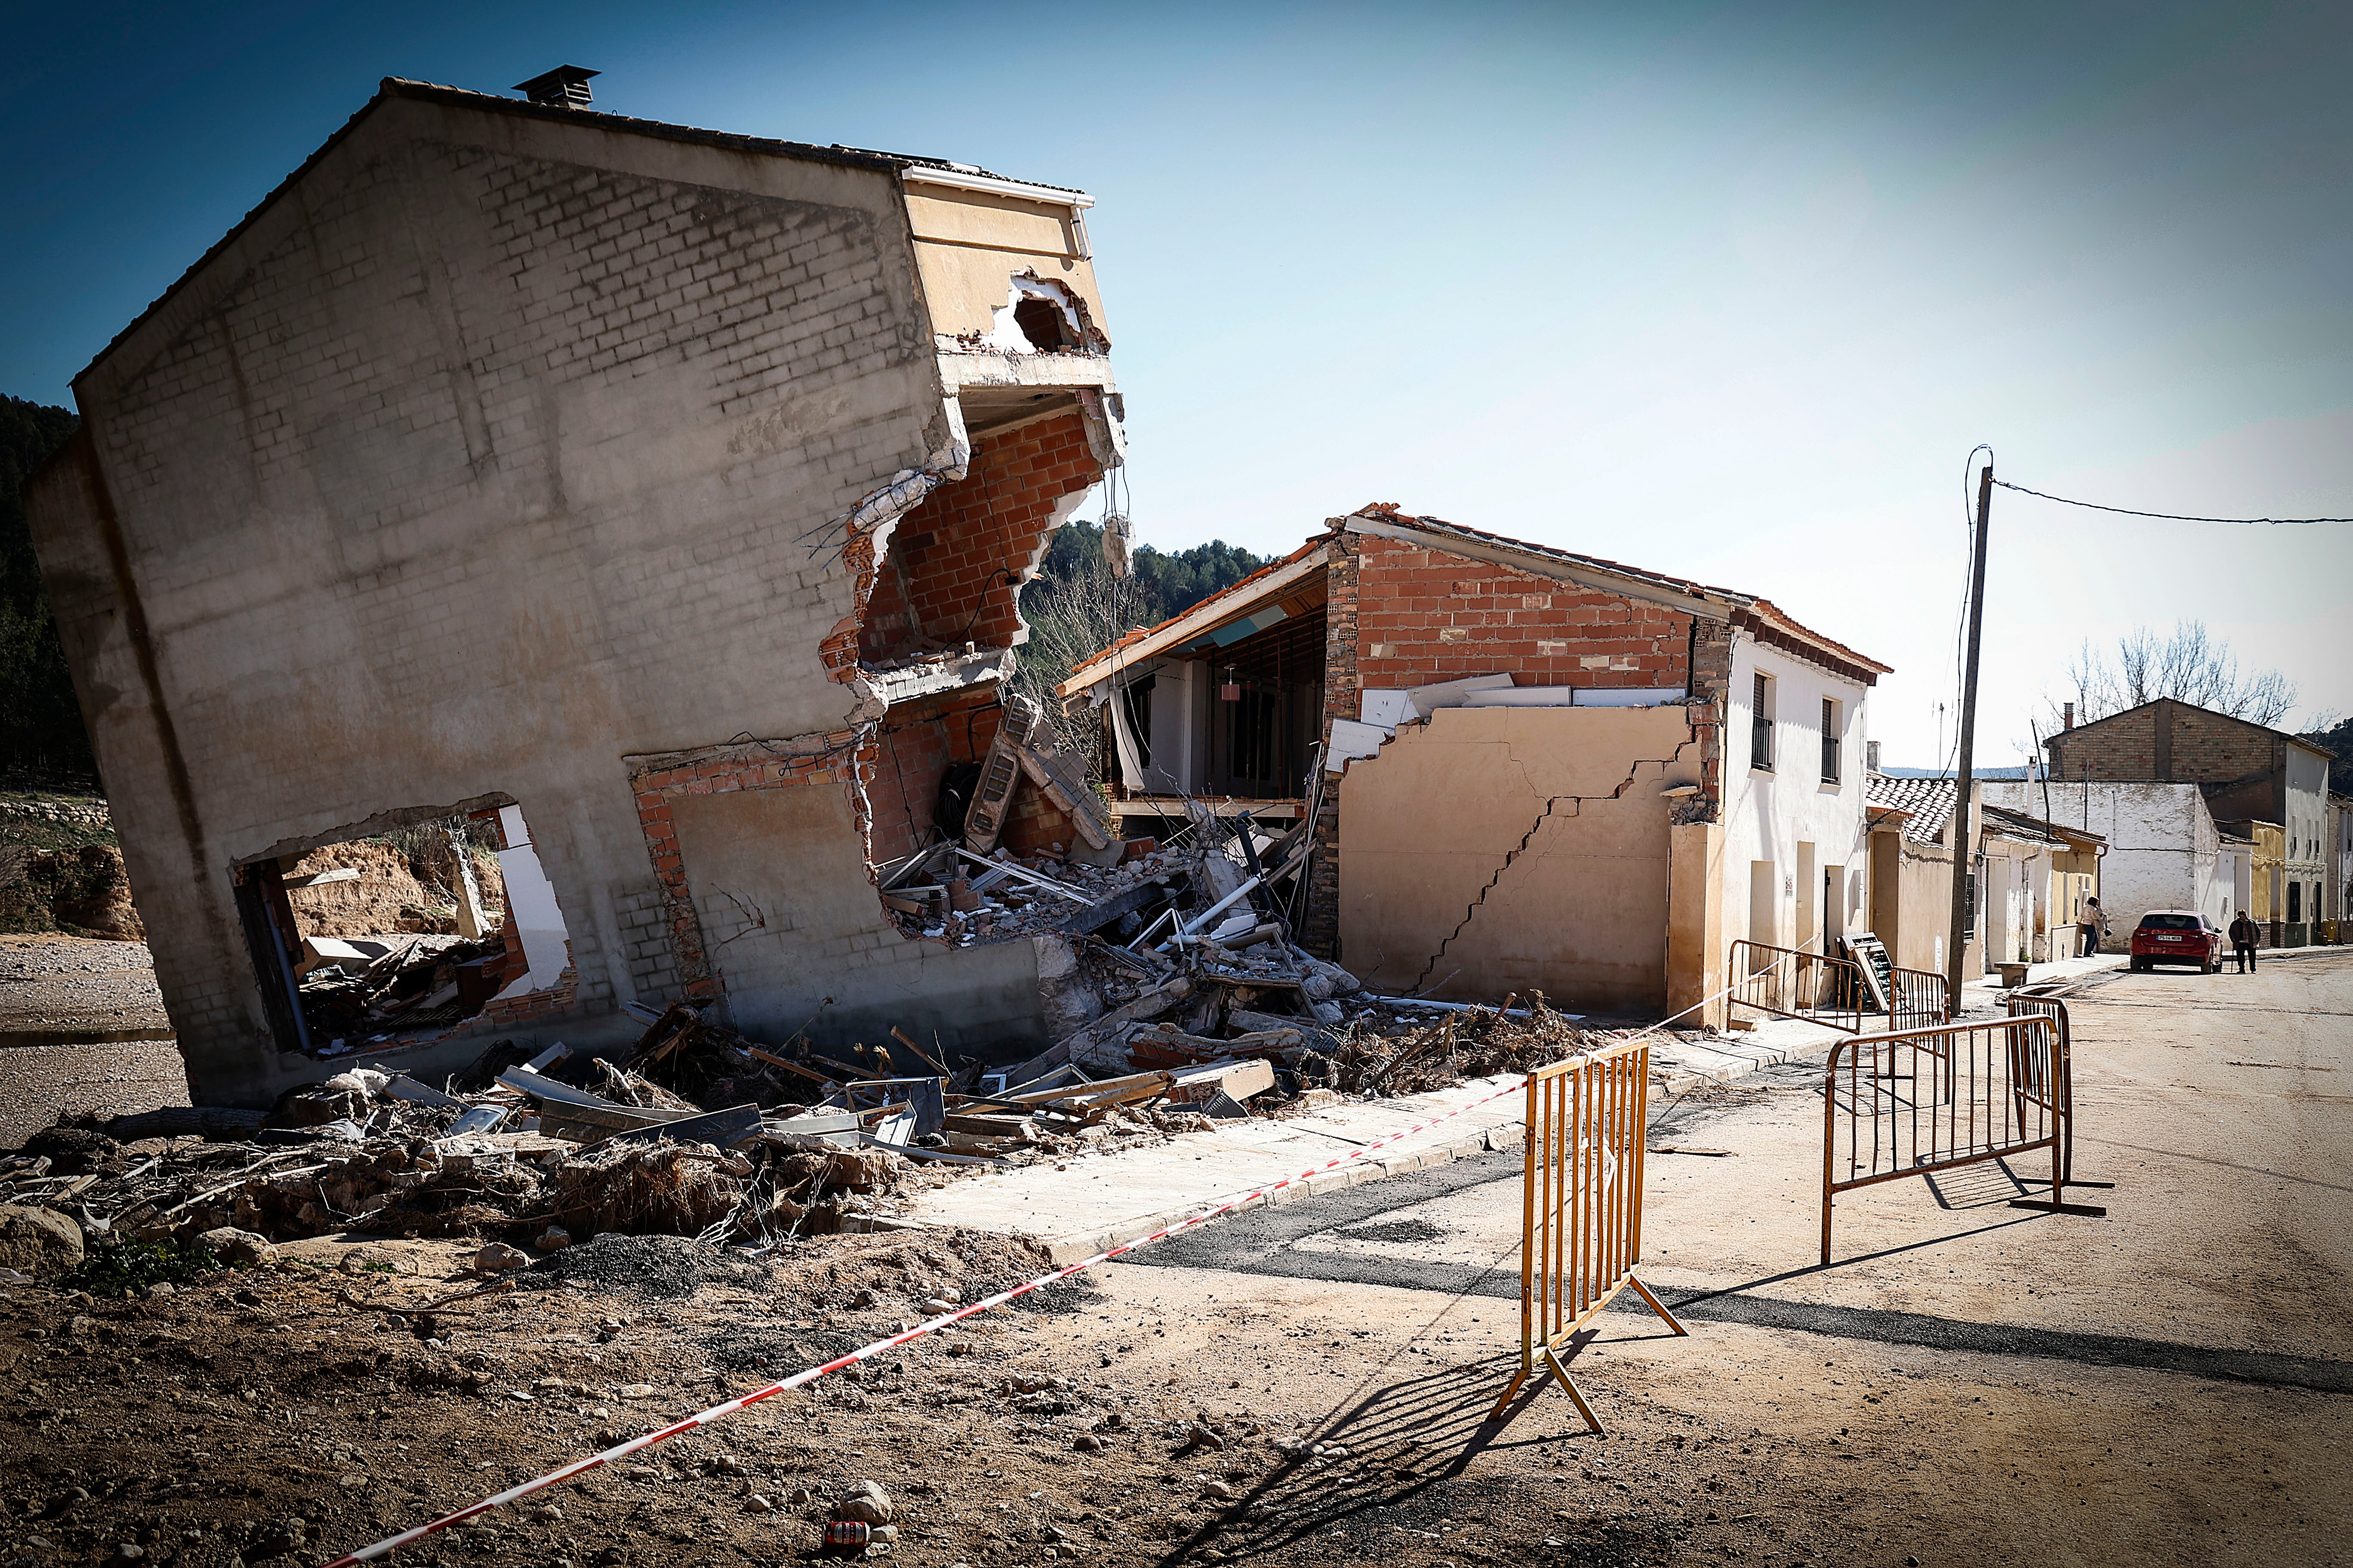
[[2066,1004],[2052,1001],[1988,1023],[1894,1030],[1831,1046],[1821,1095],[1821,1260],[1831,1262],[1831,1206],[1840,1192],[2033,1150],[2052,1152],[2052,1197],[2012,1199],[2012,1208],[2108,1213],[2066,1201],[2075,1095],[2064,1020]]

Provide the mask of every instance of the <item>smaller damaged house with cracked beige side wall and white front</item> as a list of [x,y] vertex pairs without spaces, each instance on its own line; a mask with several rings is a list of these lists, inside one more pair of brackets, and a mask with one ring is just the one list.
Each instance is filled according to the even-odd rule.
[[1313,818],[1301,940],[1377,992],[1718,1025],[1732,940],[1868,919],[1885,672],[1751,592],[1367,505],[1061,693],[1129,827]]

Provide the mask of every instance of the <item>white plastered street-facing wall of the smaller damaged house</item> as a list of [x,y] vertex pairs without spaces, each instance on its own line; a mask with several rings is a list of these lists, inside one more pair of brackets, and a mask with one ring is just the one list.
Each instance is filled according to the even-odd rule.
[[[1755,677],[1772,682],[1774,771],[1748,766]],[[1840,867],[1842,910],[1833,931],[1861,931],[1871,910],[1871,851],[1864,825],[1864,755],[1871,689],[1833,675],[1793,654],[1762,646],[1737,630],[1732,637],[1732,691],[1725,701],[1725,832],[1718,889],[1722,898],[1725,938],[1746,938],[1751,922],[1755,865],[1772,863],[1777,947],[1798,947],[1812,936],[1821,947],[1824,867]],[[1840,780],[1821,783],[1821,701],[1838,703]],[[1809,853],[1800,846],[1812,846]],[[1807,886],[1798,884],[1805,870]],[[1798,914],[1809,914],[1807,933]]]

